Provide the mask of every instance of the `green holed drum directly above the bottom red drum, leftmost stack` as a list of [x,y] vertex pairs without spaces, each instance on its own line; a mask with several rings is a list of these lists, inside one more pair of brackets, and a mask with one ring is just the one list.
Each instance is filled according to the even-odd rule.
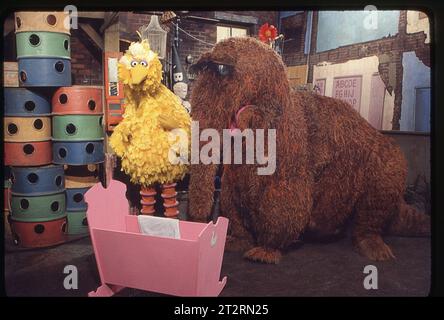
[[41,222],[66,217],[65,192],[44,196],[11,197],[11,217],[22,222]]

